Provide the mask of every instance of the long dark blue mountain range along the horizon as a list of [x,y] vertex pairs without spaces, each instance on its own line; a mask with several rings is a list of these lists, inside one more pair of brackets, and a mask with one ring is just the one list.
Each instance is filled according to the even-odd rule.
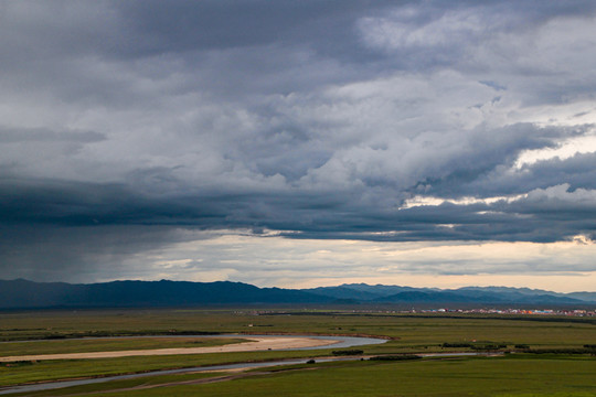
[[311,289],[258,288],[243,282],[113,281],[91,285],[0,280],[0,309],[163,308],[206,304],[535,304],[593,305],[596,292],[528,288],[454,290],[351,283]]

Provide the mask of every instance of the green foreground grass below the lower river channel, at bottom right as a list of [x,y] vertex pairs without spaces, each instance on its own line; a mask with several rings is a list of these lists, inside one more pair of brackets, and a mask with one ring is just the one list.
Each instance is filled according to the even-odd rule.
[[[342,362],[222,373],[155,376],[71,387],[61,396],[595,396],[596,360],[571,356],[459,357]],[[251,375],[251,374],[248,374]],[[135,387],[141,387],[135,389]],[[111,391],[110,391],[111,390]],[[32,396],[55,396],[39,391]]]

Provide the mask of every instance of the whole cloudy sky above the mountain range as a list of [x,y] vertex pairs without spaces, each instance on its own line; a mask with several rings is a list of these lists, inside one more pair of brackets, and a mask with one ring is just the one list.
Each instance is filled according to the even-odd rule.
[[0,279],[596,291],[596,2],[0,1]]

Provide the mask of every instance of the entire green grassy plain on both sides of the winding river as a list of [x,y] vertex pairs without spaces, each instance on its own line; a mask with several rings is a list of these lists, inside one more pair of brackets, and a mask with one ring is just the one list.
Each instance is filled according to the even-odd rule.
[[[258,314],[258,315],[256,315]],[[196,343],[222,344],[221,339],[151,337],[125,340],[61,340],[73,335],[147,335],[172,333],[304,333],[370,334],[392,337],[380,345],[359,347],[364,355],[473,351],[444,347],[444,343],[486,346],[505,351],[579,350],[596,343],[593,319],[512,319],[470,316],[417,316],[352,311],[153,310],[8,312],[0,314],[0,337],[41,340],[0,343],[0,356],[49,352],[107,352],[127,348],[196,347]],[[76,319],[76,321],[74,321]],[[50,340],[43,340],[49,337]],[[56,339],[58,337],[58,339]],[[243,337],[242,335],[238,336]],[[246,336],[249,339],[249,336]],[[203,346],[202,344],[200,344]],[[128,347],[126,347],[128,346]],[[135,346],[135,347],[132,347]],[[3,350],[2,350],[3,348]],[[207,366],[223,363],[273,361],[332,355],[317,351],[228,352],[190,355],[136,356],[100,360],[56,360],[0,365],[0,386],[77,377],[139,373],[161,368]],[[460,396],[551,395],[596,396],[596,357],[589,354],[514,353],[502,357],[424,358],[413,362],[354,361],[291,366],[286,371],[255,369],[242,374],[201,373],[156,375],[61,389],[66,393],[119,390],[110,395],[304,395],[304,396]],[[219,382],[204,383],[204,379]],[[225,382],[224,382],[225,380]],[[134,389],[142,386],[142,389]],[[168,385],[156,387],[156,385]],[[433,386],[434,385],[434,386]],[[443,386],[438,386],[443,385]],[[269,394],[268,394],[269,393]],[[550,393],[550,394],[549,394]],[[39,391],[32,395],[56,395]]]

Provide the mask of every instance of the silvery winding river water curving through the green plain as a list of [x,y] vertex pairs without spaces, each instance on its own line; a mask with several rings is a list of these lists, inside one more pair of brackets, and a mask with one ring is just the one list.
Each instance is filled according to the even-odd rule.
[[[246,339],[249,339],[251,336],[296,337],[296,335],[246,335],[246,334],[225,334],[225,335],[207,335],[207,336],[183,335],[183,337],[246,337]],[[381,343],[387,342],[386,340],[374,339],[374,337],[319,336],[319,335],[300,335],[300,336],[309,337],[309,339],[326,340],[326,341],[338,341],[338,342],[333,344],[323,345],[323,346],[283,348],[280,351],[344,348],[344,347],[363,346],[363,345],[371,345],[371,344],[381,344]],[[129,337],[129,336],[124,336],[124,337]],[[131,336],[131,337],[135,337],[135,336]],[[147,337],[159,337],[159,336],[147,336]],[[172,336],[168,335],[164,337],[172,337]],[[211,365],[211,366],[201,366],[201,367],[191,367],[191,368],[152,371],[152,372],[142,373],[142,374],[106,376],[106,377],[100,377],[100,378],[49,382],[49,383],[41,383],[41,384],[34,384],[34,385],[23,385],[23,386],[0,388],[0,395],[51,390],[51,389],[57,389],[57,388],[64,388],[64,387],[91,385],[91,384],[110,382],[110,380],[135,379],[135,378],[156,376],[156,375],[171,375],[171,374],[184,374],[184,373],[196,373],[196,372],[220,371],[220,369],[236,369],[236,368],[259,368],[259,367],[269,367],[269,366],[276,366],[276,365],[302,364],[302,363],[306,363],[307,360],[308,358],[275,361],[275,362],[265,362],[265,363],[238,363],[238,364],[226,364],[226,365]],[[350,357],[317,358],[317,362],[321,363],[321,362],[329,362],[329,361],[347,361],[347,360],[354,360],[354,358],[350,358]]]

